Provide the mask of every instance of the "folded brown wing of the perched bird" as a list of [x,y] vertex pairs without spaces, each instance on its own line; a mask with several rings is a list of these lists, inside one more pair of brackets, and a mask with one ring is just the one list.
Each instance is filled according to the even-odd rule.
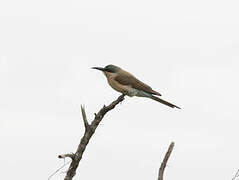
[[144,84],[142,81],[138,80],[133,75],[119,74],[115,77],[115,81],[120,84],[131,86],[132,88],[142,90],[144,92],[161,96],[160,93],[154,91],[150,86]]

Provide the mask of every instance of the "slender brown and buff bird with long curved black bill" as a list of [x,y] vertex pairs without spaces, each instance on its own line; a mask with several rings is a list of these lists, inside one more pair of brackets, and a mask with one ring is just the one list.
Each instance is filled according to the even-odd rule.
[[158,101],[171,108],[181,109],[180,107],[157,97],[161,96],[159,92],[153,90],[150,86],[137,79],[134,75],[118,66],[110,64],[104,68],[92,67],[92,69],[102,71],[107,78],[108,84],[114,90],[124,95],[129,97],[146,97]]

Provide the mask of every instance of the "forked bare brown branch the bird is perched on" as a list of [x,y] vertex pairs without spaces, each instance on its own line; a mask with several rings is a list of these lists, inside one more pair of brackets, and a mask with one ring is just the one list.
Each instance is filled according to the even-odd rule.
[[120,102],[124,100],[124,96],[125,95],[122,94],[121,96],[118,97],[117,100],[113,101],[110,105],[108,106],[104,105],[104,107],[100,109],[100,111],[97,114],[95,114],[95,118],[90,125],[86,118],[85,108],[81,106],[81,112],[82,112],[84,126],[85,126],[85,133],[83,137],[81,138],[77,151],[75,154],[63,154],[58,156],[59,158],[70,157],[72,159],[64,180],[72,180],[72,178],[75,176],[76,169],[80,163],[80,160],[82,159],[82,155],[85,151],[85,148],[87,144],[89,143],[92,135],[95,133],[96,128],[100,124],[101,120],[104,118],[104,115],[108,111],[114,109],[117,104],[119,104]]

